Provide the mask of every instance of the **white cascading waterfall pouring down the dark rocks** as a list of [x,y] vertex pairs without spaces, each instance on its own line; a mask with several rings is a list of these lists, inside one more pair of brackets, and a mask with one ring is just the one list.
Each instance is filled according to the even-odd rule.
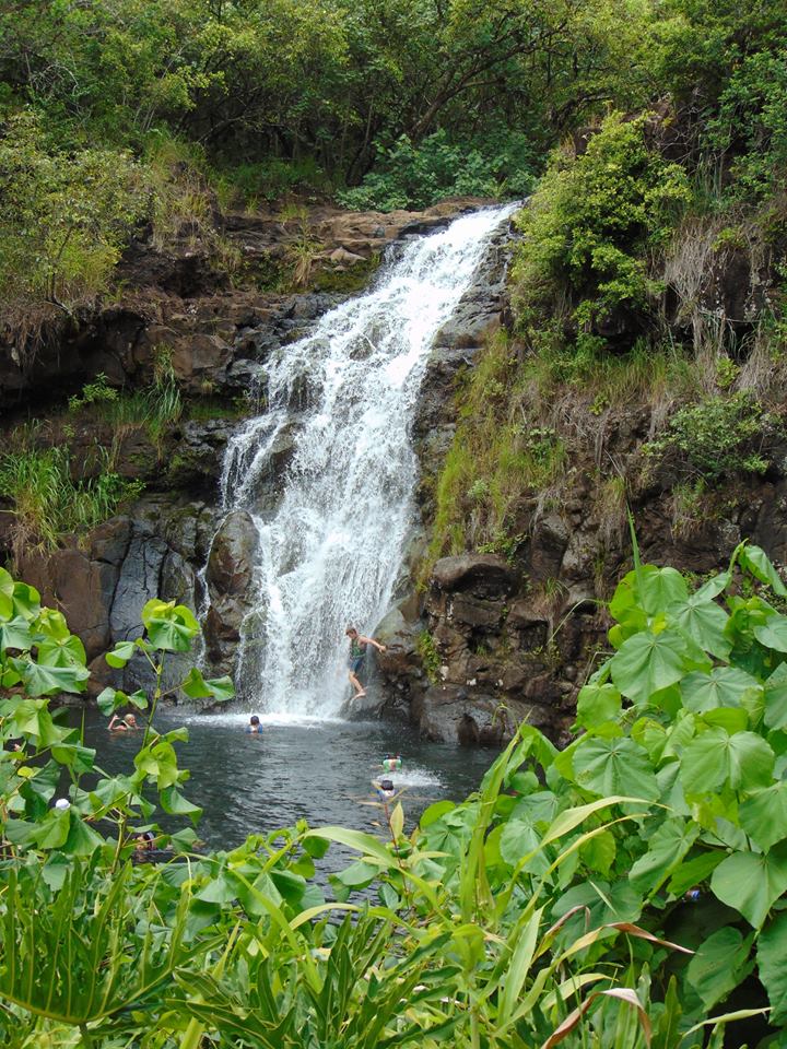
[[[514,207],[475,212],[407,245],[367,294],[268,361],[268,410],[231,440],[224,507],[259,531],[257,609],[236,680],[261,709],[329,717],[349,696],[348,624],[388,610],[413,523],[410,427],[428,352]],[[293,432],[294,427],[294,432]],[[294,440],[275,509],[260,503]]]

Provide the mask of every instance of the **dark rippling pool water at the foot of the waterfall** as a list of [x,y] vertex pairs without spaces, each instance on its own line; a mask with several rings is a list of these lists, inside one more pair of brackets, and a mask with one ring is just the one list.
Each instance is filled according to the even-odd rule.
[[[388,778],[404,792],[410,826],[433,801],[466,798],[497,754],[430,743],[384,722],[261,720],[256,736],[244,732],[248,714],[168,711],[156,719],[160,731],[188,728],[188,743],[177,744],[178,763],[191,773],[185,793],[204,810],[198,834],[211,848],[233,848],[247,834],[297,820],[372,829],[379,814],[362,802],[374,800],[371,780],[381,775],[375,766],[387,752],[403,758],[403,768]],[[140,733],[109,733],[106,719],[91,711],[85,734],[105,771],[131,771]]]

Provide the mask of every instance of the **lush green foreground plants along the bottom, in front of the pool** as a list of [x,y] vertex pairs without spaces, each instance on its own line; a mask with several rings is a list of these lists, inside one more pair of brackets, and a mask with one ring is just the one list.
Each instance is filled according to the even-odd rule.
[[[42,698],[0,699],[4,1042],[698,1049],[706,1028],[720,1046],[726,1025],[761,1016],[724,1010],[753,975],[780,1037],[787,620],[767,587],[787,597],[755,546],[697,590],[635,557],[610,604],[615,655],[580,694],[584,734],[560,753],[520,727],[478,792],[433,804],[409,834],[386,802],[388,840],[299,824],[131,867],[130,825],[153,814],[143,785],[165,812],[196,815],[178,789],[183,734],[151,722],[163,658],[197,624],[152,601],[145,635],[109,653],[150,659],[157,684],[134,771],[97,770],[84,790],[95,755],[44,697],[83,687],[83,650],[0,573],[3,686],[36,692],[36,668],[61,671]],[[230,692],[198,672],[181,687]],[[107,712],[132,698],[110,692]],[[5,750],[12,738],[23,751]],[[66,811],[48,805],[58,763],[72,775]],[[188,848],[186,832],[169,840]],[[308,880],[331,841],[357,859],[327,901]]]

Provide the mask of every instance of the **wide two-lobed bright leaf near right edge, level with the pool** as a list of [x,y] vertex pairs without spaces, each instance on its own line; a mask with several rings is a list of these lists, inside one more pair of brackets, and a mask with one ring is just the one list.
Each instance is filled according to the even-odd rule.
[[681,763],[686,794],[706,794],[725,785],[732,790],[756,790],[773,779],[776,756],[761,735],[707,729],[688,744]]

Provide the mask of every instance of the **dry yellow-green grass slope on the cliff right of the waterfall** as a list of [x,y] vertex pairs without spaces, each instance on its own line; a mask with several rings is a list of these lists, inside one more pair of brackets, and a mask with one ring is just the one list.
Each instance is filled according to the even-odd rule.
[[671,342],[639,342],[618,355],[577,353],[549,327],[530,337],[526,344],[497,333],[458,393],[422,578],[445,554],[483,547],[509,555],[524,518],[532,524],[560,504],[578,461],[590,460],[600,491],[609,483],[614,493],[602,530],[616,533],[625,483],[606,451],[610,421],[641,404],[659,429],[700,388],[695,364]]

